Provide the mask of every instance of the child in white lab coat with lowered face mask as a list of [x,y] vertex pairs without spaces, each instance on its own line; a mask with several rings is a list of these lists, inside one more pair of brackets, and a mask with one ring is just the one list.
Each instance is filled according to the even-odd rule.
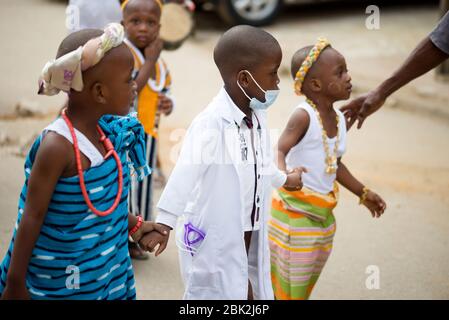
[[[224,87],[188,129],[157,205],[158,223],[177,224],[185,299],[273,299],[271,188],[301,187],[297,170],[274,166],[266,124],[281,59],[276,39],[249,26],[228,30],[215,47]],[[161,238],[142,242],[152,251],[165,247]]]

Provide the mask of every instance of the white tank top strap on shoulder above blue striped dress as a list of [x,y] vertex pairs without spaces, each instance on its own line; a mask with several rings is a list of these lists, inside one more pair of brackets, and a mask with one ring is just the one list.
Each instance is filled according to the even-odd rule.
[[[72,135],[70,134],[69,127],[65,123],[64,119],[58,118],[49,124],[43,131],[45,136],[49,131],[56,132],[57,134],[63,136],[70,143],[73,144]],[[90,160],[90,166],[96,167],[103,163],[104,159],[100,151],[86,138],[84,134],[75,129],[75,135],[78,140],[78,147],[80,151]]]

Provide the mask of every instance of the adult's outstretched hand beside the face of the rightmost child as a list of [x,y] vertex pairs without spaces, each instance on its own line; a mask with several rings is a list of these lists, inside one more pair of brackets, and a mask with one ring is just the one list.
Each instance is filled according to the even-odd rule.
[[360,129],[365,119],[379,110],[385,103],[385,100],[386,97],[379,90],[375,89],[344,105],[340,110],[345,115],[348,130],[355,121],[358,121],[357,129]]

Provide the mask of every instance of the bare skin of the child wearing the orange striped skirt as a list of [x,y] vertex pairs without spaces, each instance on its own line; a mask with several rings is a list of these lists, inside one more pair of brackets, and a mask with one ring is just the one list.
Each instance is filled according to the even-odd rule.
[[[307,50],[305,52],[302,55],[295,54],[293,57],[292,75],[299,69],[308,53]],[[333,104],[336,101],[348,99],[351,89],[351,76],[343,55],[332,47],[327,47],[305,76],[301,90],[315,103],[328,138],[335,137],[338,132],[337,113]],[[287,154],[303,139],[309,124],[309,114],[301,108],[296,109],[279,138],[277,156],[280,169],[286,169]],[[307,168],[304,169],[306,171],[303,174],[307,174]],[[338,159],[337,181],[356,196],[362,196],[364,185],[351,174],[341,158]],[[364,205],[376,218],[380,217],[386,209],[385,201],[373,191],[368,192]]]

